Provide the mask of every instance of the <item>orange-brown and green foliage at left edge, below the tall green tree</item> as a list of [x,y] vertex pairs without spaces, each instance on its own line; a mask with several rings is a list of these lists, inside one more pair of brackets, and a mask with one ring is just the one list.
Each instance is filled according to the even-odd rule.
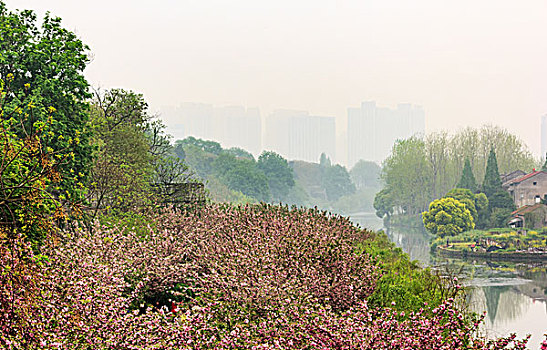
[[[42,141],[50,131],[54,108],[49,109],[49,122],[35,121],[35,114],[46,112],[37,110],[29,92],[21,107],[4,109],[4,97],[11,93],[9,86],[0,80],[0,243],[21,235],[37,249],[53,233],[56,220],[65,218],[59,168],[69,155],[68,150],[54,151]],[[24,127],[31,122],[28,129]],[[21,127],[25,137],[14,131]],[[52,194],[55,192],[57,196]]]

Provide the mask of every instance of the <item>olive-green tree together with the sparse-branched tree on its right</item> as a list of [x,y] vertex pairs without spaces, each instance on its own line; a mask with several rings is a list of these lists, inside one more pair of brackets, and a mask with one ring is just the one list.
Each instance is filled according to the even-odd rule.
[[176,156],[165,126],[148,113],[142,94],[97,91],[91,112],[96,146],[89,183],[92,217],[172,201],[171,185],[195,181]]

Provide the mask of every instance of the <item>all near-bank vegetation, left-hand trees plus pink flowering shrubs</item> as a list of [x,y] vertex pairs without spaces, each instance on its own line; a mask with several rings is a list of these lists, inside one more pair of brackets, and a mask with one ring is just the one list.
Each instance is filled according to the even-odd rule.
[[346,218],[167,206],[195,178],[142,96],[92,98],[60,19],[0,1],[0,37],[0,347],[524,349]]

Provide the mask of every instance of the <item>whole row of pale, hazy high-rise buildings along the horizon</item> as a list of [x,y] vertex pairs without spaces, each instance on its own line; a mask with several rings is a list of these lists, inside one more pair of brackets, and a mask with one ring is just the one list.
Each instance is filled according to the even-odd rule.
[[397,139],[425,133],[424,110],[410,103],[390,108],[365,101],[347,111],[347,133],[338,132],[335,117],[305,110],[276,109],[263,115],[258,108],[184,102],[164,107],[162,113],[171,120],[167,126],[174,139],[193,136],[224,148],[243,148],[255,157],[275,151],[288,160],[314,163],[325,153],[348,168],[361,159],[381,165]]

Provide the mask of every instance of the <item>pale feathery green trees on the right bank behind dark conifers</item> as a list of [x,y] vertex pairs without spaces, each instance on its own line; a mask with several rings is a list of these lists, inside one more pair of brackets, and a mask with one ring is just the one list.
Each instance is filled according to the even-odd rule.
[[427,210],[432,200],[456,187],[466,159],[475,179],[482,183],[491,149],[497,156],[500,174],[540,167],[523,141],[497,126],[397,141],[383,163],[381,177],[385,185],[375,198],[377,214],[383,216],[389,209],[402,214]]

